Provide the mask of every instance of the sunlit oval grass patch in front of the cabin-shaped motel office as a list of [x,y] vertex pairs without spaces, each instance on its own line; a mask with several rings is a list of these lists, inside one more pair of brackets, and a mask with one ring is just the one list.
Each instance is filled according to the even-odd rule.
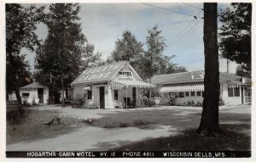
[[194,120],[194,122],[189,122],[188,116],[181,115],[182,113],[183,111],[168,109],[124,111],[105,115],[100,119],[92,119],[87,124],[102,128],[138,127],[141,129],[151,125],[180,125],[182,127],[198,125],[200,120],[197,118],[197,115],[189,114],[190,111],[188,111],[190,115],[189,120]]

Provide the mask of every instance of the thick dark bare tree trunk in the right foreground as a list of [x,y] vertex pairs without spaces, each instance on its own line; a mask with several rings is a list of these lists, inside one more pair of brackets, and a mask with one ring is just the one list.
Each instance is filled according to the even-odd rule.
[[217,30],[217,3],[204,3],[205,92],[201,123],[197,130],[201,136],[217,137],[222,134],[218,126],[220,87]]

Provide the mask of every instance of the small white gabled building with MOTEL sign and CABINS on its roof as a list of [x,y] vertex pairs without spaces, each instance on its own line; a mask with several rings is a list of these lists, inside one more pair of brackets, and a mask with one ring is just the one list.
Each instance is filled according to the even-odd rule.
[[74,98],[84,95],[85,107],[100,109],[140,107],[142,89],[155,87],[144,82],[126,61],[88,68],[71,86]]

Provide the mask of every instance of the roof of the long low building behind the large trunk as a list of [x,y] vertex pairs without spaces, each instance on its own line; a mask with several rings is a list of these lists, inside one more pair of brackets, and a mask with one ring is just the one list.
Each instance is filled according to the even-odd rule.
[[[203,70],[200,70],[201,72],[204,72]],[[183,73],[174,73],[174,74],[167,74],[167,75],[154,75],[151,78],[151,83],[153,84],[167,84],[167,83],[177,83],[177,82],[198,82],[203,81],[203,79],[200,80],[192,80],[191,78],[191,72],[183,72]],[[241,76],[233,75],[230,73],[223,73],[219,72],[219,81],[239,81],[241,79]]]

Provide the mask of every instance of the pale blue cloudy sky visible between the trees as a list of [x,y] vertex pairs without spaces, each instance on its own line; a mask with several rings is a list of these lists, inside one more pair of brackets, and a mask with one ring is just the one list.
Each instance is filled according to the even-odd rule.
[[[131,31],[137,37],[137,41],[143,42],[144,49],[147,49],[145,43],[147,31],[158,25],[167,45],[163,54],[176,56],[171,60],[172,63],[184,66],[189,71],[204,70],[202,3],[80,3],[80,5],[82,32],[88,42],[95,45],[95,53],[102,53],[103,59],[110,55],[115,42],[122,38],[125,30]],[[218,8],[226,8],[228,5],[229,3],[218,3]],[[39,38],[44,40],[47,36],[47,27],[43,24],[38,25],[37,33]],[[26,53],[26,59],[33,71],[35,54],[26,49],[22,49],[21,53]],[[236,65],[229,64],[231,73],[236,73]],[[226,59],[219,59],[219,70],[226,72]]]

